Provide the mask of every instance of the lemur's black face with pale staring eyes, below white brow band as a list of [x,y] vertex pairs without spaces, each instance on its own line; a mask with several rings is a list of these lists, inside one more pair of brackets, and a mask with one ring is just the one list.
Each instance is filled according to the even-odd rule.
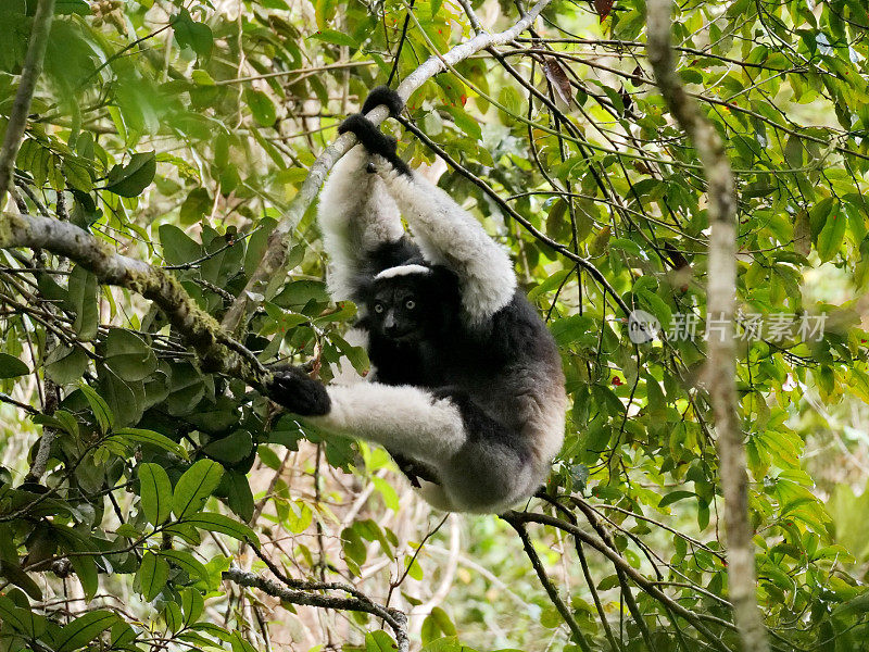
[[376,283],[368,300],[368,319],[376,331],[398,342],[424,337],[427,293],[419,281],[408,276]]

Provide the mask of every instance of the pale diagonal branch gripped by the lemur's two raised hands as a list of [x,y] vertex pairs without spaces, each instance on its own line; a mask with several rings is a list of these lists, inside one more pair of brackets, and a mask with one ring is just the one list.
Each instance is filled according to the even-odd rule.
[[[448,65],[454,65],[464,61],[471,54],[492,46],[501,46],[513,41],[525,32],[537,18],[541,11],[550,3],[550,0],[539,0],[531,10],[525,14],[513,27],[498,34],[478,34],[474,38],[457,45],[444,54],[433,54],[429,57],[413,73],[407,75],[395,89],[403,100],[407,100],[428,79],[438,73],[446,70]],[[389,116],[386,106],[378,106],[367,114],[375,125],[379,125]],[[228,333],[238,333],[248,316],[256,309],[269,290],[269,285],[274,279],[281,279],[284,276],[284,263],[287,260],[291,240],[290,237],[319,192],[326,175],[350,149],[356,145],[356,137],[353,134],[344,134],[332,142],[311,166],[299,192],[295,195],[287,212],[281,217],[278,225],[268,238],[268,246],[257,266],[251,275],[248,285],[235,303],[224,315],[223,327]]]

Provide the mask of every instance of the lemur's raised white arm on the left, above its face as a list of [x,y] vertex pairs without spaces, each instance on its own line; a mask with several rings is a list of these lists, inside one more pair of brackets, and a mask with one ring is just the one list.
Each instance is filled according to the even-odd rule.
[[[387,103],[391,111],[401,110],[376,96],[374,101]],[[365,111],[373,108],[366,103]],[[370,272],[370,254],[385,244],[387,249],[395,244],[402,250],[396,255],[406,258],[408,243],[402,240],[405,234],[399,209],[374,172],[370,154],[364,147],[354,147],[332,168],[320,193],[317,214],[330,253],[328,285],[336,300],[356,298],[361,276]]]

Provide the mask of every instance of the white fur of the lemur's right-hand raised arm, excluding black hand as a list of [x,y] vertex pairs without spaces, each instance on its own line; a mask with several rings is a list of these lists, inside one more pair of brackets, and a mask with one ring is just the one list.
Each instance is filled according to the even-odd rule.
[[516,291],[516,275],[507,252],[467,211],[424,177],[379,168],[423,255],[458,275],[468,319],[480,323],[507,305]]

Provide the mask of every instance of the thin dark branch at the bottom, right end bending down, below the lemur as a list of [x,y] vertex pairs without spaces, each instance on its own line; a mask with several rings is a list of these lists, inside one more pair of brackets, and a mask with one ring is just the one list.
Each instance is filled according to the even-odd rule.
[[[410,649],[410,639],[407,638],[407,616],[404,614],[404,612],[401,612],[396,609],[381,606],[368,598],[336,598],[335,595],[323,595],[320,593],[311,593],[307,591],[289,589],[280,586],[276,581],[256,575],[255,573],[248,573],[239,568],[224,570],[223,578],[235,581],[242,587],[260,589],[264,593],[268,593],[274,598],[279,598],[280,600],[291,604],[302,604],[305,606],[317,606],[320,609],[337,609],[341,611],[355,611],[371,614],[373,616],[382,618],[387,625],[392,628],[392,631],[395,635],[395,641],[399,643],[399,652],[407,652]],[[356,593],[356,595],[360,594]]]

